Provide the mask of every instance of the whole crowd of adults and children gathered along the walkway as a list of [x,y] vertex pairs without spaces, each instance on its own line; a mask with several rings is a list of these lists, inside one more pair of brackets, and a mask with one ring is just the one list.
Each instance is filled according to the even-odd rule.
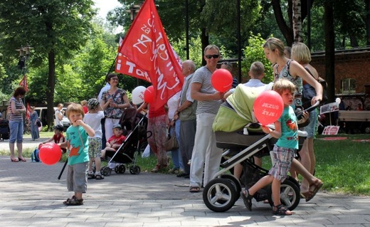
[[[273,65],[273,89],[282,96],[284,112],[275,122],[275,130],[262,127],[263,132],[276,137],[277,143],[273,149],[273,167],[268,176],[258,183],[241,192],[245,206],[251,210],[252,198],[258,189],[266,184],[272,184],[273,213],[291,215],[292,212],[280,203],[280,183],[287,177],[288,172],[297,180],[297,174],[303,176],[300,191],[306,201],[322,186],[322,181],[313,176],[316,159],[314,157],[314,130],[317,124],[316,110],[305,113],[304,120],[309,119],[309,125],[302,128],[307,132],[307,139],[299,151],[300,161],[295,159],[298,149],[297,130],[298,120],[295,110],[302,107],[302,85],[307,83],[316,90],[317,95],[312,98],[312,104],[322,100],[322,86],[317,82],[319,75],[310,65],[310,50],[303,43],[295,43],[292,48],[284,46],[277,38],[268,38],[263,46],[265,57]],[[222,149],[216,147],[216,136],[213,132],[213,122],[221,104],[230,95],[233,95],[238,81],[233,78],[233,88],[226,93],[218,92],[213,88],[211,75],[218,68],[221,59],[220,49],[215,45],[208,45],[203,51],[206,65],[196,69],[192,60],[185,60],[182,67],[184,83],[181,91],[171,97],[166,105],[154,109],[150,103],[142,102],[137,112],[148,111],[147,131],[152,136],[147,139],[151,151],[157,158],[157,164],[152,172],[167,171],[178,177],[189,179],[189,192],[196,193],[208,184],[220,168]],[[221,68],[232,71],[231,63],[224,62]],[[264,76],[265,65],[259,61],[250,65],[248,75],[250,80],[245,83],[247,88],[265,86],[261,82]],[[65,205],[82,205],[83,193],[87,188],[87,179],[104,179],[101,174],[101,159],[107,151],[117,151],[126,137],[122,133],[120,118],[125,110],[132,107],[127,93],[118,88],[118,76],[110,73],[106,77],[107,84],[100,91],[97,99],[83,100],[80,104],[70,104],[66,109],[66,116],[70,120],[70,127],[63,136],[61,120],[65,114],[63,104],[58,104],[55,112],[55,132],[53,138],[43,142],[56,142],[68,151],[68,191],[74,195],[65,200]],[[9,125],[11,137],[9,148],[11,162],[26,162],[22,156],[23,117],[26,112],[22,98],[24,88],[17,88],[9,101]],[[136,106],[135,106],[136,107]],[[32,139],[38,139],[36,130],[37,112],[31,107],[31,125],[33,126]],[[289,119],[290,125],[287,125]],[[303,121],[304,121],[303,120]],[[62,127],[60,127],[60,125]],[[164,148],[167,134],[176,134],[179,147],[167,152]],[[14,152],[15,144],[18,157]],[[171,159],[169,159],[169,154]],[[169,160],[172,168],[169,169]],[[95,173],[93,171],[95,162]],[[255,164],[262,166],[260,157],[255,157]],[[240,178],[243,171],[241,165],[234,168],[234,176]],[[86,177],[88,176],[88,177]]]

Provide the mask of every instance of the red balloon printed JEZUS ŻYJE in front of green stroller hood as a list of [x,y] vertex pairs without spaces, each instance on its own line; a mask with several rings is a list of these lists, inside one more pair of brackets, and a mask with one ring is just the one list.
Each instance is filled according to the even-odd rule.
[[277,121],[282,115],[284,102],[275,90],[266,90],[260,93],[253,103],[255,118],[262,125],[269,125]]

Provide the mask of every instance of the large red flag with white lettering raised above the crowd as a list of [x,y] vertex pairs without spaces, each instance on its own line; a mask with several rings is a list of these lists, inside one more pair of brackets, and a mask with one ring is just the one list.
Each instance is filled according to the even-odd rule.
[[154,110],[181,90],[181,60],[169,44],[153,0],[146,0],[120,45],[115,71],[154,87]]

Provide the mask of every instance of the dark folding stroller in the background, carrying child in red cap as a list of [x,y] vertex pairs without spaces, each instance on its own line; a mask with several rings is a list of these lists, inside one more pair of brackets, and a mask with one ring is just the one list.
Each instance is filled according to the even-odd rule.
[[134,108],[128,108],[122,115],[120,124],[127,130],[128,135],[116,152],[107,151],[105,153],[108,164],[107,167],[101,169],[104,176],[110,176],[112,173],[110,168],[112,162],[117,163],[114,167],[117,174],[124,174],[126,169],[129,169],[130,174],[139,174],[141,171],[136,165],[136,159],[142,147],[147,146],[147,138],[152,134],[146,131],[147,117],[137,113]]

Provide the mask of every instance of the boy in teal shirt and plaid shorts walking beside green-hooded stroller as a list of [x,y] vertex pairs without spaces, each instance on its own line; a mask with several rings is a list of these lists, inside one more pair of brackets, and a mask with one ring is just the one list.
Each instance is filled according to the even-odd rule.
[[[298,126],[295,112],[290,106],[294,101],[295,85],[286,79],[279,79],[274,83],[275,92],[279,93],[284,103],[282,115],[274,122],[275,130],[262,126],[263,132],[277,138],[273,148],[273,167],[267,176],[261,178],[250,189],[240,192],[245,206],[252,210],[252,199],[255,192],[272,183],[273,191],[273,213],[278,215],[292,215],[292,211],[282,206],[280,201],[280,184],[287,178],[290,165],[298,149]],[[255,109],[255,108],[254,108]],[[255,113],[256,117],[260,113]]]

